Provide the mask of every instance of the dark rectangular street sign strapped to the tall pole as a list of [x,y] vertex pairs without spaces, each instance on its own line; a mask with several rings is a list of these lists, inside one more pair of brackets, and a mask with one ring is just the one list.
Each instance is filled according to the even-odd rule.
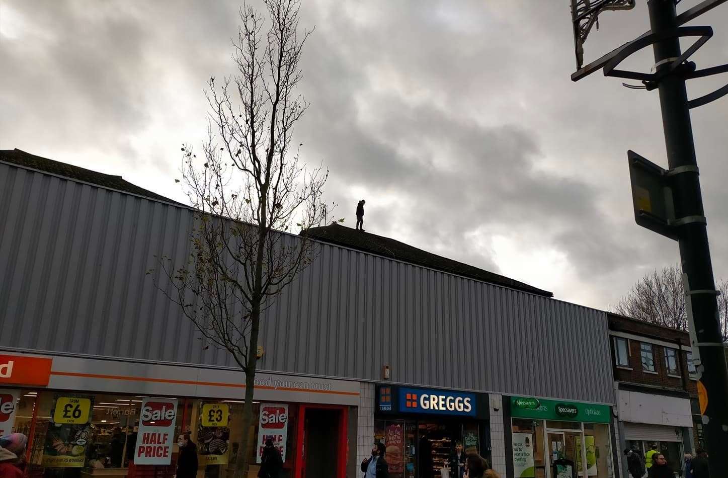
[[668,184],[668,171],[636,154],[627,152],[632,183],[632,202],[639,226],[677,240],[673,193]]

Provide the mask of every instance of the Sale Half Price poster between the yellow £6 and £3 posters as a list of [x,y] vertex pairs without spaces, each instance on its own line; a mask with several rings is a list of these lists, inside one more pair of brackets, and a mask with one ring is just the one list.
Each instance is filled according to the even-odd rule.
[[137,465],[169,465],[177,420],[177,399],[146,397],[141,403],[134,450]]

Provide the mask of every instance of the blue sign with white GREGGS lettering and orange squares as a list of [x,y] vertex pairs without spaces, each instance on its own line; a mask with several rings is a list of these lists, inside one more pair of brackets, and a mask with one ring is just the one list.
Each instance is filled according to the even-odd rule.
[[400,413],[427,413],[474,417],[475,394],[463,391],[400,388]]

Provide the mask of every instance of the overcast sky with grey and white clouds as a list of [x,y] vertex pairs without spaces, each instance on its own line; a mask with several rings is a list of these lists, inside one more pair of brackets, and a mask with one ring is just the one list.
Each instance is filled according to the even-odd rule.
[[[680,10],[697,4],[684,0]],[[0,148],[183,201],[183,142],[205,137],[205,82],[234,73],[239,1],[0,0]],[[303,0],[302,157],[355,223],[609,308],[677,244],[636,226],[627,150],[663,167],[657,92],[578,83],[568,0]],[[728,62],[728,4],[699,68]],[[646,31],[606,12],[587,61]],[[648,71],[646,50],[629,65]],[[702,95],[726,82],[693,80]],[[728,98],[692,113],[716,276],[728,276]]]

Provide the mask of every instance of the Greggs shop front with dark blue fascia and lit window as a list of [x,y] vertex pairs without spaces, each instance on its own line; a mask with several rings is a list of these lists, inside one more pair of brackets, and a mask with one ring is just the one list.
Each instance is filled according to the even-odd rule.
[[451,474],[456,444],[489,457],[488,395],[376,386],[374,439],[387,447],[392,478],[459,478]]

